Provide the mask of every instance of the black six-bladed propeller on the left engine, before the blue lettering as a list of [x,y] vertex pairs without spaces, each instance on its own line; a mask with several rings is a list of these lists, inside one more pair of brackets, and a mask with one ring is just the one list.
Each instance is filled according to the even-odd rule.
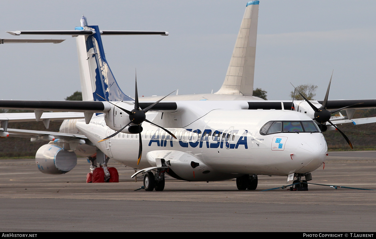
[[116,106],[117,108],[121,109],[122,111],[126,112],[128,115],[129,115],[129,119],[130,119],[130,122],[128,124],[126,124],[123,128],[121,128],[120,130],[116,131],[114,134],[111,134],[110,136],[108,137],[105,137],[104,139],[102,140],[99,140],[99,142],[102,142],[102,141],[105,141],[107,139],[111,139],[112,137],[114,137],[115,135],[117,135],[118,133],[120,133],[122,130],[124,130],[124,128],[126,128],[128,125],[130,124],[136,124],[135,126],[137,127],[137,129],[135,130],[136,133],[138,133],[138,138],[139,138],[139,148],[138,148],[138,160],[137,160],[137,165],[139,164],[140,160],[141,160],[141,155],[142,155],[142,139],[141,139],[141,132],[143,130],[143,128],[141,127],[141,124],[146,121],[150,124],[153,124],[159,128],[162,128],[164,131],[166,131],[168,134],[170,134],[172,137],[174,137],[174,139],[176,139],[176,136],[171,133],[170,131],[168,131],[167,129],[157,125],[157,124],[154,124],[153,122],[149,121],[147,118],[146,118],[146,112],[148,112],[151,108],[153,108],[153,106],[155,106],[158,102],[160,102],[161,100],[163,100],[164,98],[166,98],[167,96],[169,96],[170,94],[172,94],[173,92],[171,92],[170,94],[168,94],[167,96],[163,97],[162,99],[158,100],[157,102],[153,103],[152,105],[148,106],[147,108],[145,109],[140,109],[139,108],[139,103],[138,103],[138,92],[137,92],[137,75],[136,75],[136,79],[135,79],[135,108],[132,109],[132,111],[128,111],[126,109],[123,109],[121,108],[120,106],[117,106],[115,105],[114,103],[111,103],[109,102],[108,100],[106,100],[105,98],[103,98],[102,96],[100,96],[99,94],[97,94],[99,97],[101,97],[103,100],[107,101],[108,103]]

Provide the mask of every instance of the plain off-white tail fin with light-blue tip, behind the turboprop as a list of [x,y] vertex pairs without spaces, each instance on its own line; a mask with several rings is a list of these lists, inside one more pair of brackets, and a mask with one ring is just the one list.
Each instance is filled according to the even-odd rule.
[[226,78],[215,94],[252,96],[259,1],[247,3]]

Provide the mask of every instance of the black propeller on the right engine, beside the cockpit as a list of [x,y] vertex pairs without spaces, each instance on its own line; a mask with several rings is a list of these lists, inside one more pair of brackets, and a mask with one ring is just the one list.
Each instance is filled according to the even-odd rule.
[[356,103],[354,105],[349,105],[349,106],[343,107],[341,109],[336,109],[336,110],[333,110],[333,111],[327,110],[327,102],[328,102],[329,89],[330,89],[330,85],[331,85],[331,82],[332,82],[332,77],[333,77],[333,72],[332,72],[332,76],[331,76],[330,81],[329,81],[328,88],[326,90],[326,94],[325,94],[323,104],[320,108],[317,108],[316,106],[314,106],[305,96],[302,95],[302,93],[299,92],[299,90],[297,90],[294,87],[294,85],[293,85],[293,87],[303,97],[303,99],[308,103],[308,105],[311,106],[311,108],[315,111],[315,114],[314,114],[315,118],[313,118],[312,120],[315,120],[316,122],[320,123],[320,125],[318,125],[318,126],[320,127],[321,131],[322,132],[326,131],[327,127],[326,127],[325,123],[329,122],[329,124],[333,125],[333,127],[336,128],[338,130],[338,132],[340,132],[342,134],[342,136],[344,137],[346,142],[350,145],[350,147],[353,148],[352,143],[350,142],[349,138],[335,124],[333,124],[330,121],[330,118],[331,118],[331,115],[334,114],[335,112],[338,112],[338,111],[341,111],[343,109],[350,108],[352,106],[359,105],[359,104],[362,104],[362,103]]

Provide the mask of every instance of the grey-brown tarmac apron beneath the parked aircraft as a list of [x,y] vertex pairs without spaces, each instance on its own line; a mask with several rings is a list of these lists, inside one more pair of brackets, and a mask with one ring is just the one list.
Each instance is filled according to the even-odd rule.
[[[39,172],[33,159],[0,160],[2,232],[375,232],[376,191],[309,185],[276,189],[287,177],[258,176],[254,191],[235,179],[134,191],[143,178],[115,161],[119,183],[86,183],[79,158],[64,175]],[[376,151],[329,152],[311,183],[376,190]]]

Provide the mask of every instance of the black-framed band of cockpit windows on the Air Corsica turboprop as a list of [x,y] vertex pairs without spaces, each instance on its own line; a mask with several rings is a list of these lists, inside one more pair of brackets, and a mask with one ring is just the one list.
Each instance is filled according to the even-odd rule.
[[261,135],[275,133],[314,133],[321,132],[313,121],[269,121],[260,129]]

